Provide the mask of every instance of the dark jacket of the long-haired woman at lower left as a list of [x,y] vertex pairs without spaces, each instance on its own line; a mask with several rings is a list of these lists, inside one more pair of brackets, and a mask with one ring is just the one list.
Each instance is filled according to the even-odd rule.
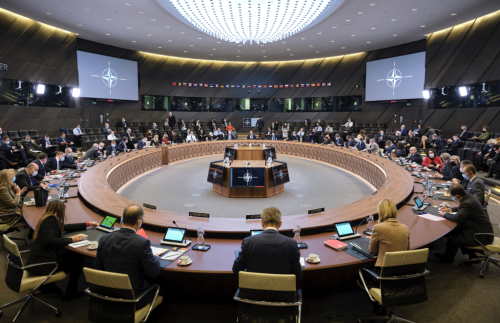
[[[64,231],[85,230],[85,223],[65,224]],[[58,255],[62,247],[73,243],[71,238],[62,238],[59,220],[55,216],[48,216],[40,224],[38,235],[31,245],[31,251],[28,256],[27,265],[39,264],[44,262],[57,262]],[[35,275],[48,275],[54,267],[34,267],[27,269]]]

